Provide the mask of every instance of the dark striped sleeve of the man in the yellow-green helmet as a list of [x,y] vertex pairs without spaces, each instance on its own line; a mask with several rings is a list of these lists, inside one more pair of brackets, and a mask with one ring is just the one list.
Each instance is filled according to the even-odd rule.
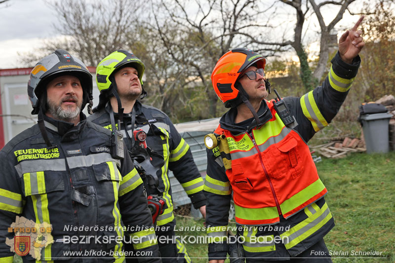
[[193,206],[198,209],[206,204],[206,198],[202,192],[203,179],[197,170],[189,145],[178,133],[173,123],[170,120],[168,122],[170,127],[169,169],[173,171],[175,178],[191,198]]

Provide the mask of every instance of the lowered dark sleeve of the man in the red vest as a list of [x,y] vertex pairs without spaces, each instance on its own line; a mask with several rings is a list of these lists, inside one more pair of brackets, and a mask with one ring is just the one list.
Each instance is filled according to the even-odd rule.
[[232,188],[218,148],[207,149],[207,175],[203,192],[207,198],[208,260],[223,260],[226,259],[228,251],[227,236]]

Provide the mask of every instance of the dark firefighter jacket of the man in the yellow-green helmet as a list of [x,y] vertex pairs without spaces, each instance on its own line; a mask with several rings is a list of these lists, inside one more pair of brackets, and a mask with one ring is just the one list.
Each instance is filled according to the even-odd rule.
[[[110,109],[111,105],[108,103],[106,107],[89,116],[89,120],[100,126],[111,129]],[[173,172],[175,178],[180,182],[181,186],[191,198],[195,208],[205,205],[206,202],[202,192],[203,179],[194,163],[189,145],[180,136],[170,118],[165,113],[154,107],[142,105],[139,101],[136,101],[133,110],[136,113],[133,130],[144,130],[147,133],[147,146],[164,157],[164,163],[157,172],[159,179],[158,189],[154,192],[150,189],[147,189],[147,191],[149,194],[160,194],[166,200],[164,213],[158,217],[157,221],[157,225],[165,225],[174,220],[173,200],[168,177],[169,170]],[[117,119],[118,114],[115,113],[115,116]],[[123,136],[126,141],[127,149],[129,150],[134,143],[131,118],[131,113],[123,114],[123,121],[127,127],[126,130],[128,131],[128,135],[126,135],[125,127],[121,129],[124,134]],[[152,130],[147,121],[150,122]],[[171,227],[174,227],[174,225]]]

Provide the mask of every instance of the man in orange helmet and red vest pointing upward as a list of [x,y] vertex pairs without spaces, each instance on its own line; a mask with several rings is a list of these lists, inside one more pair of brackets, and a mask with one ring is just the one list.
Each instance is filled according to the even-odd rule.
[[357,30],[362,19],[339,39],[322,85],[300,98],[282,99],[276,92],[276,99],[265,100],[266,59],[250,49],[233,49],[218,60],[213,87],[231,109],[205,137],[210,263],[224,262],[232,243],[227,231],[232,194],[238,257],[331,262],[323,237],[334,221],[307,142],[333,119],[349,92],[364,45]]

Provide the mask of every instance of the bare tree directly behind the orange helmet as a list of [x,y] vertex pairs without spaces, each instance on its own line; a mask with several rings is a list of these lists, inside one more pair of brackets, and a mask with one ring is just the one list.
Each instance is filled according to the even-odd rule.
[[[245,45],[243,30],[265,27],[256,21],[265,12],[257,0],[161,0],[155,8],[155,25],[164,48],[181,72],[198,79],[208,98],[206,117],[217,112],[218,97],[210,75],[221,55],[231,47]],[[191,8],[193,6],[193,8]],[[160,16],[162,14],[162,16]],[[179,81],[180,74],[173,81]]]

